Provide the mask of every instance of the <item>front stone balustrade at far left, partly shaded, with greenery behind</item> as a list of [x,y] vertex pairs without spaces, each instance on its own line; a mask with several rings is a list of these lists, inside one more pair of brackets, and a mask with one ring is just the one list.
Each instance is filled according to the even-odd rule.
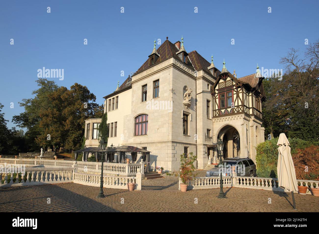
[[[24,173],[0,173],[0,188],[72,182],[75,168],[26,167]],[[10,178],[8,174],[11,174]],[[2,180],[4,180],[3,184]]]

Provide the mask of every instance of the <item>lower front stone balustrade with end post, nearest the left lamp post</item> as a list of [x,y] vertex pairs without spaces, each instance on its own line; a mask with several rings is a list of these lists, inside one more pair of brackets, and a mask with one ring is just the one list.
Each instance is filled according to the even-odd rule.
[[[140,170],[137,171],[136,176],[107,176],[103,175],[103,188],[119,188],[128,189],[128,183],[135,183],[134,189],[141,190],[142,174]],[[74,173],[73,182],[77,184],[100,187],[101,176],[94,174]]]

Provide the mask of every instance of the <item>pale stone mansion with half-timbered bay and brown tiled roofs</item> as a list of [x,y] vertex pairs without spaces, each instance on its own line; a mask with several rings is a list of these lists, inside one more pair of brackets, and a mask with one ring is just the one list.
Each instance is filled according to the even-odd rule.
[[[154,41],[145,63],[104,97],[108,146],[151,151],[150,170],[178,170],[184,152],[197,155],[197,167],[204,168],[217,156],[219,138],[224,158],[256,161],[255,147],[264,141],[262,81],[258,66],[241,78],[226,69],[225,61],[220,71],[213,56],[208,62],[196,50],[187,53],[183,38],[175,43],[167,38],[158,49]],[[98,147],[100,121],[85,121],[86,147]]]

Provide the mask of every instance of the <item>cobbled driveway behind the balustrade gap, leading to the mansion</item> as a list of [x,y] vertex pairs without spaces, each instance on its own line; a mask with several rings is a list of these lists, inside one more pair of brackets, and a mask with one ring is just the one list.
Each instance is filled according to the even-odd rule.
[[[196,177],[204,177],[207,170],[198,170],[193,174]],[[169,176],[162,173],[164,178],[143,180],[142,189],[143,190],[178,190],[178,178],[176,176]]]

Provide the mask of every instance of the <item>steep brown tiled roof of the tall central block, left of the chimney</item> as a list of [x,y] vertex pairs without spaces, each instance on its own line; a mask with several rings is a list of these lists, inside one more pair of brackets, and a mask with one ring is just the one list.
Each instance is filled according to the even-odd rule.
[[159,54],[159,58],[156,60],[156,62],[154,64],[152,64],[151,66],[149,65],[149,60],[150,58],[148,58],[145,63],[138,68],[138,70],[136,71],[135,74],[144,71],[145,69],[155,66],[156,64],[159,64],[160,62],[172,58],[174,57],[175,59],[181,60],[176,53],[179,51],[179,49],[172,43],[170,42],[168,39],[165,40],[163,42],[163,44],[161,46],[159,46],[159,48],[157,49],[157,53]]

